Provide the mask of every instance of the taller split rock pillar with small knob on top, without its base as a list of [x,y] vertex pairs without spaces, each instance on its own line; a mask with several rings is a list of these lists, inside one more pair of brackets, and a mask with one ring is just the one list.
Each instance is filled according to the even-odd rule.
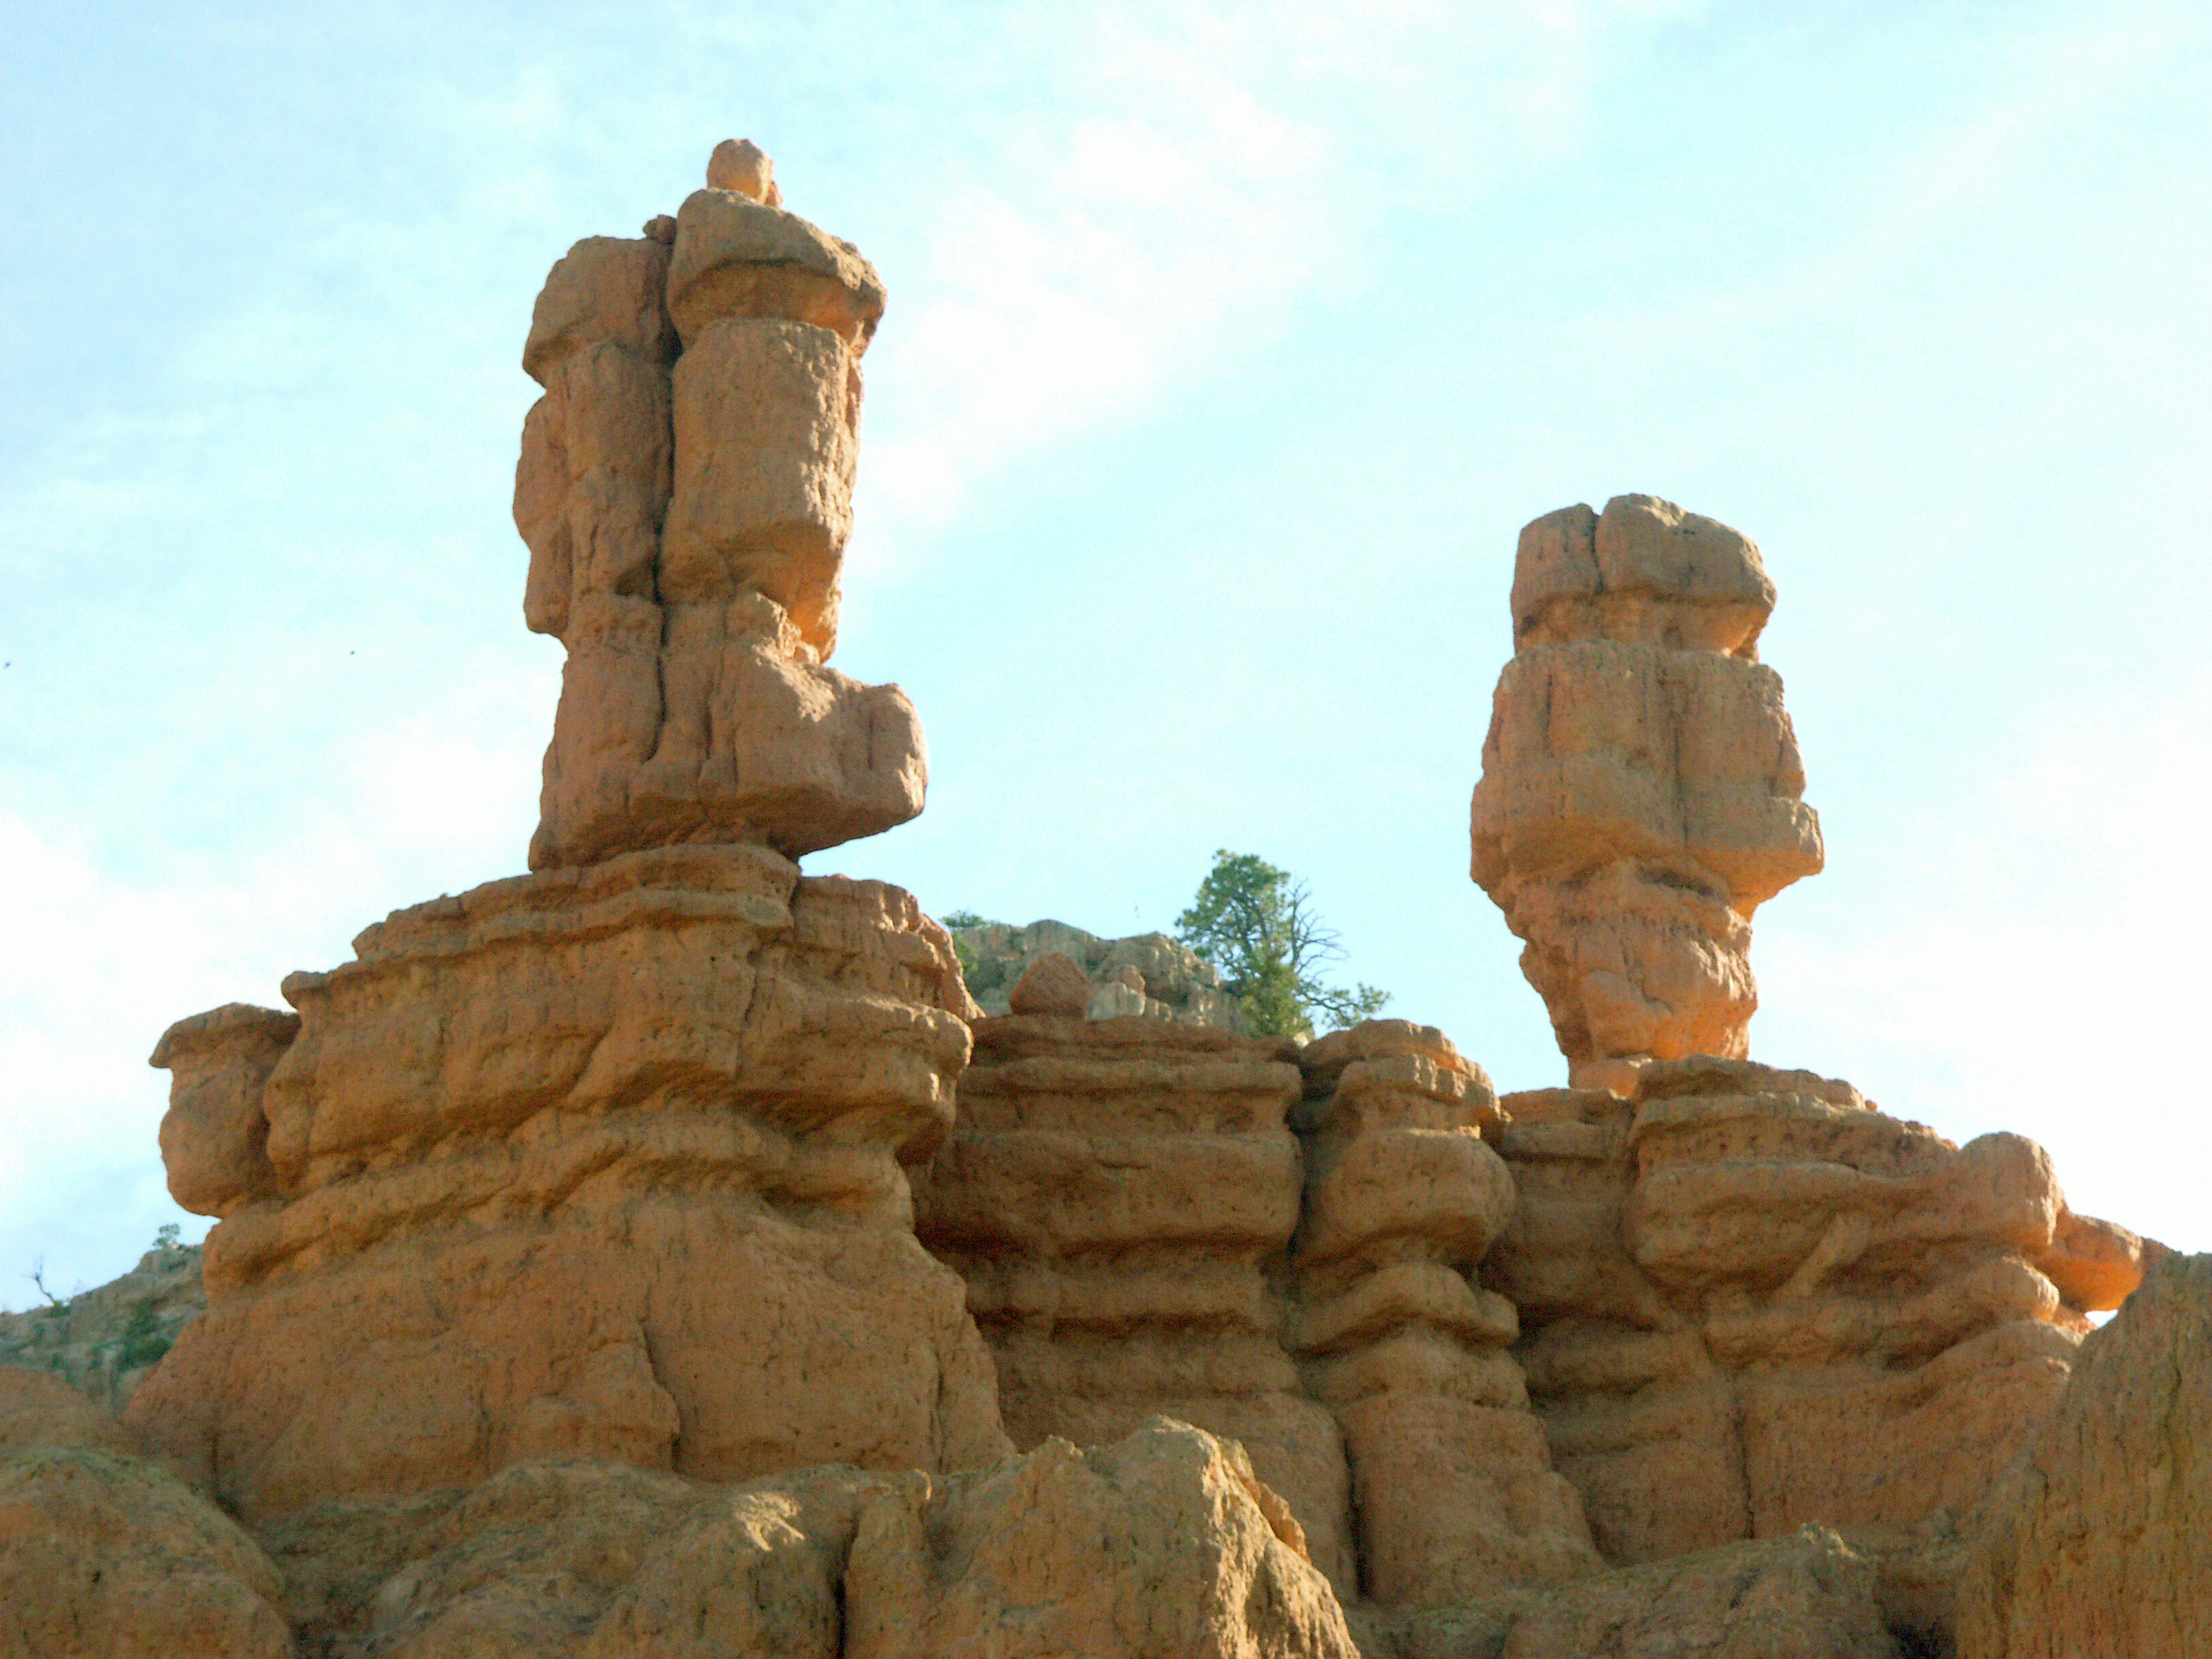
[[[522,367],[524,617],[568,648],[531,867],[686,841],[790,856],[905,823],[914,706],[823,661],[883,285],[714,150],[666,237],[586,237]],[[659,223],[659,221],[655,221]]]

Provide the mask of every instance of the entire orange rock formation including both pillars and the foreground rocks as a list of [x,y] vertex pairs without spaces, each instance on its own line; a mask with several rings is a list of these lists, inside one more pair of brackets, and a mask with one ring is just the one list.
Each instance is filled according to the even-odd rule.
[[161,1037],[206,1312],[18,1327],[0,1655],[2205,1650],[2212,1261],[1745,1057],[1820,863],[1759,551],[1522,535],[1473,869],[1571,1088],[1252,1037],[1161,936],[799,872],[922,801],[823,666],[880,310],[741,142],[555,265],[533,874]]

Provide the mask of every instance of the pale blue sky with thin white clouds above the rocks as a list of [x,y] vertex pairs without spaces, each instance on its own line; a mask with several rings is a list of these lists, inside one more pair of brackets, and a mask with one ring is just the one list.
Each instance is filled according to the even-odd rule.
[[1517,526],[1655,491],[1765,549],[1827,827],[1754,1053],[2212,1248],[2201,4],[0,33],[0,1305],[175,1217],[170,1020],[522,867],[531,296],[728,135],[891,288],[838,666],[931,805],[810,869],[1124,933],[1259,852],[1557,1082],[1467,794]]

